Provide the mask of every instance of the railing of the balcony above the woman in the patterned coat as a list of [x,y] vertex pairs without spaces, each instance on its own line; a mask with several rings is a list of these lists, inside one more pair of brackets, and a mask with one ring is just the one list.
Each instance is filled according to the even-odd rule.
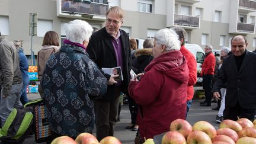
[[69,14],[91,14],[105,15],[108,9],[107,4],[95,2],[74,2],[62,0],[62,12]]

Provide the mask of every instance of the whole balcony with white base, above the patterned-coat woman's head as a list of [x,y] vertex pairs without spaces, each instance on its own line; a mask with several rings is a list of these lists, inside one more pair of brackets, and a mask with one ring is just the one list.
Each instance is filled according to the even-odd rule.
[[96,2],[57,1],[57,16],[105,20],[108,4]]

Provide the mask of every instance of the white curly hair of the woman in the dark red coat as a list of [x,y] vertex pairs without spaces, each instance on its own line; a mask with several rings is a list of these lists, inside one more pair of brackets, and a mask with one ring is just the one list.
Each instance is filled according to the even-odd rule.
[[169,28],[157,31],[155,34],[155,41],[158,46],[161,44],[166,46],[167,51],[180,50],[180,40],[178,39],[178,35],[175,31]]

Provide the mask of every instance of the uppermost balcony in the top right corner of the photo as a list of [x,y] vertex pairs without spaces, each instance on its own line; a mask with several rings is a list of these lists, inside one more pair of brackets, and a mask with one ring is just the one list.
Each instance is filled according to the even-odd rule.
[[241,12],[255,12],[256,2],[250,0],[239,0],[239,11]]

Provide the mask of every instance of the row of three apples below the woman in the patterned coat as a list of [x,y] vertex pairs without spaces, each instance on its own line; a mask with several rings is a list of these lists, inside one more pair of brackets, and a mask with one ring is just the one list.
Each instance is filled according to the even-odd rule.
[[121,142],[113,136],[104,137],[104,139],[98,142],[91,133],[81,133],[75,140],[69,136],[60,136],[54,139],[51,144],[121,144]]

